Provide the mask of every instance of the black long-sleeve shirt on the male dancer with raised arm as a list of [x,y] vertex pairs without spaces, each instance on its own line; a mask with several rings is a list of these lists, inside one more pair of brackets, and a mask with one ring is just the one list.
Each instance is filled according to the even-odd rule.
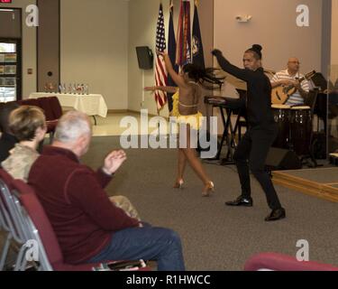
[[213,51],[221,68],[247,83],[247,116],[250,126],[269,126],[274,123],[271,110],[271,84],[262,68],[240,69],[227,61],[221,51]]

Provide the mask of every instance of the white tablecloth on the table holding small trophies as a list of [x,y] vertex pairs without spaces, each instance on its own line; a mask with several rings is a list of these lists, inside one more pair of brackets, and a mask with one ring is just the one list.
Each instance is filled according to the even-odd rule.
[[108,107],[105,98],[100,94],[61,94],[47,92],[33,92],[29,98],[58,97],[61,107],[73,107],[78,111],[86,113],[88,116],[106,117]]

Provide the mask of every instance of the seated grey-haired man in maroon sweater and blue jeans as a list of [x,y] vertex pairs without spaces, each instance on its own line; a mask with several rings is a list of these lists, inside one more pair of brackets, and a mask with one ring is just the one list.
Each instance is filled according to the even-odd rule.
[[105,158],[97,172],[78,159],[91,139],[88,117],[70,111],[59,119],[54,142],[32,165],[28,182],[55,230],[66,262],[157,260],[159,270],[185,270],[178,234],[132,219],[114,206],[105,185],[125,161],[123,151]]

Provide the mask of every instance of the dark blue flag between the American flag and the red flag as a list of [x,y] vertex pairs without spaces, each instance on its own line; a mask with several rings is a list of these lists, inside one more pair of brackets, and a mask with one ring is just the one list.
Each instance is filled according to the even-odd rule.
[[[176,63],[176,38],[174,30],[174,4],[173,0],[169,0],[170,17],[169,17],[169,36],[168,36],[168,54],[171,63]],[[178,65],[174,65],[174,70],[178,72]],[[176,83],[168,76],[169,87],[176,87]],[[172,93],[168,93],[168,107],[172,110]]]

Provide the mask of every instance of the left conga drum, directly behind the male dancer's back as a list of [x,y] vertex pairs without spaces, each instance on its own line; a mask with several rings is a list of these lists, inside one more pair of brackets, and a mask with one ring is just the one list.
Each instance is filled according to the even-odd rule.
[[290,142],[290,108],[285,105],[272,105],[273,117],[279,126],[279,134],[275,142],[272,144],[274,147],[287,148]]

